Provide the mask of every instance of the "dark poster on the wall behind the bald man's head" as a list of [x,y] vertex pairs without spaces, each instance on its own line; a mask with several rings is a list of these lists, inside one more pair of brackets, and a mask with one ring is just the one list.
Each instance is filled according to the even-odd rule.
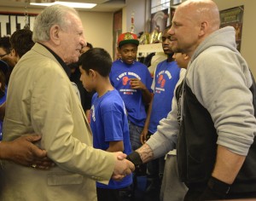
[[219,12],[220,14],[220,27],[233,26],[236,31],[236,49],[241,49],[241,31],[243,20],[244,8],[242,6],[234,7],[231,9],[224,9]]

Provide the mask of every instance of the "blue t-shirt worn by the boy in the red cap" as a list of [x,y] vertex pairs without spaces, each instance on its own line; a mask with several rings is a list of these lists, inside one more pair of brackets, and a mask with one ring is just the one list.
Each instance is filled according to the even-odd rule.
[[147,89],[152,92],[150,89],[152,77],[147,66],[138,61],[134,61],[133,64],[129,65],[122,60],[115,60],[109,78],[113,87],[119,91],[119,95],[125,102],[128,119],[135,125],[143,127],[147,118],[143,103],[143,93],[140,89],[131,89],[130,79],[140,79]]

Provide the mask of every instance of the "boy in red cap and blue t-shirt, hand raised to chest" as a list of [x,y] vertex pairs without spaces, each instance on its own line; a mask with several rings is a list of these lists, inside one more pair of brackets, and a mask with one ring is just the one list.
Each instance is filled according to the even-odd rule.
[[137,35],[125,32],[119,35],[120,59],[113,62],[110,81],[125,102],[128,113],[131,149],[137,150],[142,143],[140,134],[147,118],[145,106],[151,101],[152,77],[148,67],[137,61]]

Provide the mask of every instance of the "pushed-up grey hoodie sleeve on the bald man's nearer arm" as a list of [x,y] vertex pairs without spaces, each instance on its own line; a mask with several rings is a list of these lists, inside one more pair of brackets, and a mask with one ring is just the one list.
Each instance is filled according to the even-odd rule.
[[256,132],[247,63],[226,48],[208,51],[212,52],[205,51],[191,63],[187,83],[212,116],[217,144],[246,156]]

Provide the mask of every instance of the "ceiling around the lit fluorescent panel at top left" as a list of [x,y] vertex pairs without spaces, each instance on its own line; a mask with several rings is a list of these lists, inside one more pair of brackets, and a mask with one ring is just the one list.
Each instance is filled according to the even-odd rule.
[[[0,7],[12,7],[12,8],[27,8],[40,9],[44,7],[32,6],[28,2],[33,3],[50,3],[55,0],[1,0]],[[115,12],[125,7],[125,0],[58,0],[61,2],[76,2],[76,3],[96,3],[96,7],[93,9],[78,9],[92,12]]]

